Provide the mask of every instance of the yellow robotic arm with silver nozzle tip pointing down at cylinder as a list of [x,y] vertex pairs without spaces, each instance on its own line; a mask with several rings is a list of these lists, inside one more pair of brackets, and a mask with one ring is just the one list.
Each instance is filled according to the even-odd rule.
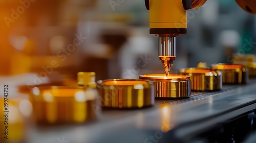
[[[186,10],[196,9],[207,0],[145,0],[150,11],[150,34],[158,35],[158,56],[166,77],[176,57],[176,37],[187,33]],[[256,1],[236,0],[249,13],[256,13]]]

